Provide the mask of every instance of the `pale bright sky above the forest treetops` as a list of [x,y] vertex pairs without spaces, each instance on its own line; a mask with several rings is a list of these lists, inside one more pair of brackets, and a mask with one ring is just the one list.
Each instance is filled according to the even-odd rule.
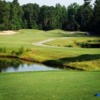
[[[13,0],[6,0],[6,1],[13,1]],[[27,3],[37,3],[40,6],[42,5],[48,5],[48,6],[55,6],[55,4],[60,3],[61,5],[65,5],[66,7],[70,5],[71,3],[78,3],[80,5],[83,4],[84,0],[18,0],[21,5],[27,4]],[[95,0],[92,0],[92,4]]]

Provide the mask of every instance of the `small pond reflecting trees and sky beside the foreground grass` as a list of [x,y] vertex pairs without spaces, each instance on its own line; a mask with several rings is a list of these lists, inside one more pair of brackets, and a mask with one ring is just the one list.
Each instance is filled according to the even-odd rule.
[[59,70],[38,63],[24,62],[19,59],[0,58],[0,73],[3,72],[26,72],[26,71],[49,71]]

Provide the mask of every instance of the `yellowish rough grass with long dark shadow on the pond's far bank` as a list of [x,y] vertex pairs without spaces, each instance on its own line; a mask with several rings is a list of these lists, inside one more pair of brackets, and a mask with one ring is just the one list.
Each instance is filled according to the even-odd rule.
[[[53,50],[51,49],[49,51],[46,49],[47,52],[50,52],[48,54],[46,52],[43,52],[44,50],[40,51],[39,49],[38,49],[39,51],[36,51],[37,53],[34,51],[34,49],[24,50],[23,48],[24,52],[21,51],[21,53],[19,52],[20,50],[22,50],[22,47],[19,48],[19,50],[17,51],[6,50],[9,52],[1,53],[0,57],[17,58],[24,61],[38,62],[45,65],[57,66],[57,67],[66,68],[66,69],[71,68],[71,69],[76,69],[76,70],[100,70],[100,67],[99,67],[100,54],[98,54],[99,52],[98,50],[97,50],[98,52],[96,53],[90,52],[89,54],[86,54],[86,53],[82,54],[82,51],[81,51],[81,55],[79,52],[78,52],[79,54],[73,53],[73,55],[70,55],[68,53],[64,54],[65,52],[59,54],[61,50],[54,51],[54,49]],[[57,56],[51,52],[54,52],[54,53],[56,52]],[[70,49],[70,52],[71,52],[71,49]]]

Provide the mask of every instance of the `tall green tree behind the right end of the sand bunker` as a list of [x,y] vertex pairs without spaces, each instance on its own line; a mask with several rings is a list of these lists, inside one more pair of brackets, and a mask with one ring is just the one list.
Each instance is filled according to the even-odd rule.
[[22,28],[22,8],[18,3],[18,0],[14,0],[11,4],[11,13],[10,13],[10,20],[11,20],[11,29],[20,29]]

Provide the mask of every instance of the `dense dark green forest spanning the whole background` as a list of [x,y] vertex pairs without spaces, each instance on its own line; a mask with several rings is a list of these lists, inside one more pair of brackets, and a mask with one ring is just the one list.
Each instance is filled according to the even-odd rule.
[[91,0],[84,0],[83,5],[70,4],[67,8],[39,6],[38,4],[20,5],[18,0],[6,2],[0,0],[0,30],[18,29],[63,29],[70,31],[100,32],[100,0],[91,6]]

